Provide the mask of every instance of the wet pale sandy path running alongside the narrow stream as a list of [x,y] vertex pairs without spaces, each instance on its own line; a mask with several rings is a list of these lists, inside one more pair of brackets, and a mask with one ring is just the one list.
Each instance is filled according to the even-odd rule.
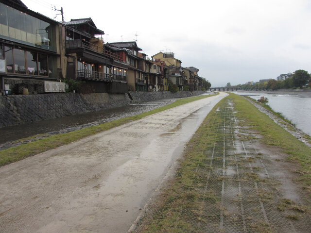
[[197,100],[0,168],[0,232],[127,232],[212,107]]

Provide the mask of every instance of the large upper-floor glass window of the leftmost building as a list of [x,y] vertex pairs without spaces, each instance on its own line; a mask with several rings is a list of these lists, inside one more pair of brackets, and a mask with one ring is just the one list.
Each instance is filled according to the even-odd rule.
[[0,3],[0,37],[56,51],[50,23]]

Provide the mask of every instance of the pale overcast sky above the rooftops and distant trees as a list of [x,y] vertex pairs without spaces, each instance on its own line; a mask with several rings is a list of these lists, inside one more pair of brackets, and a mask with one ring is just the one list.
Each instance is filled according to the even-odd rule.
[[51,2],[63,7],[65,21],[91,17],[104,42],[133,41],[137,34],[149,57],[174,52],[214,87],[311,71],[310,0],[22,1],[51,18],[60,13]]

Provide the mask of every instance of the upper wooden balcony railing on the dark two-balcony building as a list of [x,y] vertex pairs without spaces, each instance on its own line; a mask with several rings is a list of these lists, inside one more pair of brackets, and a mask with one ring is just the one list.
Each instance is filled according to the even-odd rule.
[[67,40],[66,41],[66,49],[76,49],[76,48],[85,48],[87,50],[91,50],[93,52],[111,57],[115,60],[122,61],[120,55],[115,54],[109,50],[106,50],[104,47],[100,47],[100,46],[94,45],[92,43],[89,43],[85,40],[77,39],[77,40]]

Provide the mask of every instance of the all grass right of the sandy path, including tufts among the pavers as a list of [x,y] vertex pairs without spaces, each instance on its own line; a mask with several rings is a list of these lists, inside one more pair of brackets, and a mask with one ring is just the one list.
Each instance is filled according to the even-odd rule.
[[[151,204],[148,214],[141,218],[141,223],[138,224],[137,232],[203,232],[200,229],[201,225],[205,226],[204,224],[210,224],[209,226],[214,226],[217,232],[222,232],[221,230],[223,229],[219,229],[219,221],[221,219],[220,213],[223,211],[225,217],[227,218],[230,218],[233,214],[230,213],[229,210],[226,210],[225,206],[221,205],[221,195],[213,192],[212,188],[207,188],[207,183],[208,185],[211,183],[211,187],[215,186],[215,181],[211,180],[212,178],[209,178],[210,172],[208,172],[208,169],[220,169],[218,167],[209,166],[212,164],[210,161],[213,161],[213,159],[210,159],[207,156],[207,152],[208,154],[214,154],[215,144],[219,142],[221,144],[222,140],[225,140],[223,139],[223,135],[225,134],[217,134],[217,131],[224,125],[224,122],[222,121],[224,119],[224,115],[219,113],[222,109],[228,107],[228,105],[225,104],[228,100],[233,103],[234,113],[241,128],[248,129],[255,132],[256,135],[260,135],[258,140],[263,147],[271,147],[275,151],[277,150],[287,154],[287,161],[290,163],[293,162],[293,167],[299,167],[297,172],[300,176],[296,182],[302,183],[304,188],[309,192],[308,199],[310,200],[311,149],[297,140],[292,134],[277,125],[272,119],[269,118],[269,116],[260,112],[248,100],[241,96],[230,94],[213,108],[197,132],[193,135],[190,142],[187,144],[184,156],[180,161],[179,168],[177,169],[174,178],[168,182],[168,185],[165,188],[162,189],[162,192],[159,197],[157,197],[155,203]],[[223,112],[225,111],[223,110]],[[236,136],[239,137],[240,135]],[[252,140],[254,139],[252,135],[243,134],[242,136],[245,137],[245,141],[250,138],[252,138]],[[219,150],[225,151],[225,146],[224,149],[220,148]],[[226,148],[226,150],[232,151],[235,149]],[[219,153],[219,151],[215,151],[215,154],[217,152]],[[227,156],[228,155],[226,155],[226,157]],[[237,156],[242,159],[240,154],[237,154]],[[261,156],[262,155],[258,153],[258,156],[254,159],[258,159]],[[222,156],[219,158],[220,161],[217,161],[222,164]],[[248,159],[249,162],[252,161],[251,159],[253,158],[249,157]],[[214,160],[216,160],[216,155]],[[232,159],[229,161],[230,162],[226,163],[234,164]],[[248,162],[246,161],[246,164]],[[242,160],[237,163],[239,166],[245,166],[243,164],[244,161]],[[199,173],[202,169],[207,170],[206,173]],[[292,172],[295,173],[295,171]],[[276,190],[279,188],[277,186],[278,184],[269,183],[269,181],[255,176],[255,173],[250,173],[249,175],[251,175],[253,179],[257,179],[258,182],[264,183],[265,185],[263,186],[271,189],[275,188]],[[218,180],[218,183],[220,183],[219,186],[221,186],[221,182],[224,179],[230,178],[220,176]],[[248,178],[245,177],[239,179],[239,181],[244,182],[245,184],[247,179]],[[270,182],[272,181],[270,180]],[[273,194],[263,189],[260,191],[262,192],[260,193],[261,197],[264,197],[264,204],[271,204],[271,206],[274,206]],[[267,193],[269,193],[269,195]],[[239,201],[241,198],[241,196],[238,196],[235,200]],[[277,198],[279,197],[276,197],[276,200]],[[251,200],[245,201],[246,203],[251,202]],[[310,202],[309,204],[311,205]],[[298,205],[295,203],[295,206]],[[211,211],[205,211],[203,208],[210,208]],[[215,211],[216,209],[218,209],[218,211]],[[253,211],[256,210],[253,209]],[[305,209],[303,213],[305,213]],[[253,218],[253,216],[247,216],[246,213],[245,215],[248,220]],[[297,217],[299,218],[300,216],[297,215]],[[239,221],[241,219],[238,216],[235,218],[233,217],[233,219],[235,219],[236,224],[240,224]],[[260,224],[260,222],[256,223],[256,220],[259,219],[254,220],[255,223],[250,226],[254,228],[254,232],[272,232],[268,223]]]

